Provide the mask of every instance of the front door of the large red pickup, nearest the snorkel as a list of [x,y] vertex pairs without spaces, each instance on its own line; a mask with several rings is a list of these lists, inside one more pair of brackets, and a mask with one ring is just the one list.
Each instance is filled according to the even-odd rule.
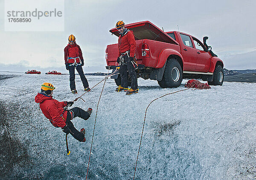
[[196,71],[207,73],[211,64],[211,56],[201,41],[192,37],[197,52]]

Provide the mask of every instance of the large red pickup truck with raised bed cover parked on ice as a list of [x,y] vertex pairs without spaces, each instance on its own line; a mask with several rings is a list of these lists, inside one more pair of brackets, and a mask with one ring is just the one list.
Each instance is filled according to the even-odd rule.
[[[162,88],[179,87],[184,78],[202,79],[208,81],[209,85],[223,84],[224,64],[212,52],[211,46],[206,44],[208,37],[204,37],[202,43],[189,34],[164,32],[149,21],[127,24],[125,28],[134,32],[137,77],[157,80]],[[119,37],[116,28],[110,32]],[[119,67],[117,56],[117,44],[107,45],[107,69],[114,71]],[[115,79],[116,85],[121,84],[119,73],[111,78]]]

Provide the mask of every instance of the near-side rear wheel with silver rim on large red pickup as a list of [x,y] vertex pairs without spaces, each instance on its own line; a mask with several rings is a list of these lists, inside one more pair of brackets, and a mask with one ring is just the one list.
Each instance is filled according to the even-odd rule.
[[162,88],[179,87],[182,82],[182,69],[175,58],[168,59],[163,73],[163,79],[157,81]]

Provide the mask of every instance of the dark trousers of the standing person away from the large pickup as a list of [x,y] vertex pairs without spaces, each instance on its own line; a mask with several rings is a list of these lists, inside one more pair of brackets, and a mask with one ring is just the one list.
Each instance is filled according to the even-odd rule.
[[[68,63],[69,65],[72,65],[73,63]],[[76,66],[76,70],[79,73],[79,76],[81,78],[81,81],[83,83],[84,88],[89,87],[88,81],[86,77],[84,76],[84,71],[82,69],[81,65]],[[69,66],[69,72],[70,72],[70,89],[75,90],[76,89],[76,84],[75,84],[75,67]]]

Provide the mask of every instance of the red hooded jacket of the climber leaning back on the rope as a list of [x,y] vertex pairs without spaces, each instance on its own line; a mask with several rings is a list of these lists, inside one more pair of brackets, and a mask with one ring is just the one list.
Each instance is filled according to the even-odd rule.
[[67,106],[65,101],[59,102],[52,96],[38,93],[35,96],[35,102],[39,103],[40,109],[54,127],[66,126],[67,111],[63,110],[63,107]]

